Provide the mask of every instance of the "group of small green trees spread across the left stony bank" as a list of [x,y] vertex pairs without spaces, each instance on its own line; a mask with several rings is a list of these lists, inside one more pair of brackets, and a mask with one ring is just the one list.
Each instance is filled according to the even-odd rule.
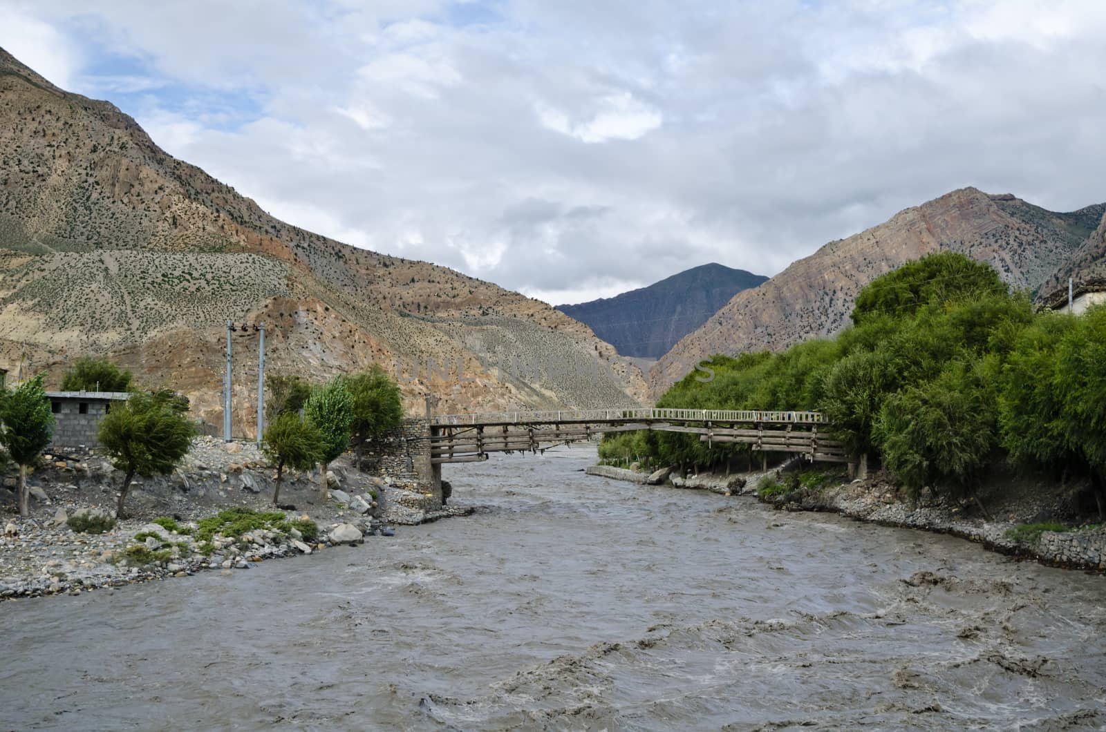
[[[326,466],[346,450],[361,466],[367,447],[382,440],[403,420],[399,387],[379,366],[311,384],[294,375],[267,378],[270,422],[262,449],[276,467],[273,503],[286,468],[320,467],[326,491]],[[170,389],[147,390],[132,374],[105,358],[77,358],[62,379],[66,391],[129,391],[127,400],[100,422],[101,449],[123,471],[116,515],[123,517],[135,475],[169,474],[187,454],[197,425],[188,418],[188,399]],[[19,509],[30,512],[27,471],[53,438],[54,416],[38,375],[0,390],[0,461],[19,466]]]

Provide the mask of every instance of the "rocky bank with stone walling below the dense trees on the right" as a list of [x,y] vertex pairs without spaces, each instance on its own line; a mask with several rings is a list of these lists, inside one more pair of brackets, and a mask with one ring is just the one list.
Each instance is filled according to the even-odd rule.
[[[619,468],[592,472],[615,480],[649,483],[648,474]],[[625,473],[625,474],[624,474]],[[1068,568],[1106,571],[1106,524],[1040,521],[1057,513],[1056,494],[1024,494],[1015,498],[988,496],[990,515],[971,504],[933,500],[906,500],[885,473],[868,480],[832,481],[815,487],[779,491],[759,491],[761,480],[770,477],[784,482],[779,469],[766,473],[737,475],[701,473],[685,478],[672,475],[667,485],[708,490],[723,495],[750,495],[787,511],[830,511],[858,521],[951,534],[978,542],[989,550],[1032,558],[1043,564]],[[998,516],[1002,516],[999,519]]]

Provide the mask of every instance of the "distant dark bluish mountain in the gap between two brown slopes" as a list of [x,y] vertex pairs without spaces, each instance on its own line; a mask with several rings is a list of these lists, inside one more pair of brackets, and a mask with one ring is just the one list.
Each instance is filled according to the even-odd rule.
[[722,264],[702,264],[647,287],[556,309],[588,325],[623,356],[660,358],[733,295],[765,280]]

